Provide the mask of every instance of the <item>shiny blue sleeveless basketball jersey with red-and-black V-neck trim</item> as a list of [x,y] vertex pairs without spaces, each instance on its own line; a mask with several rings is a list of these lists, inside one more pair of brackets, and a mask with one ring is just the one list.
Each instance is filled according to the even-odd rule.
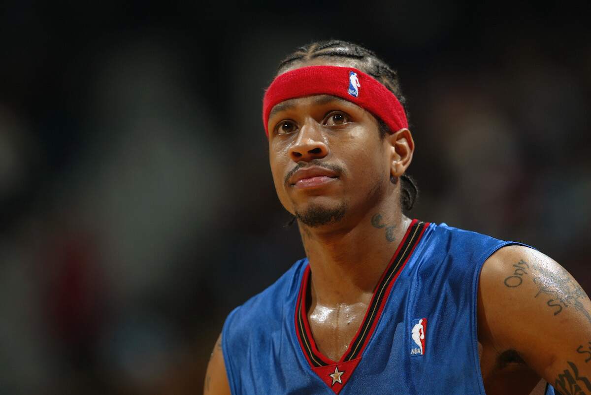
[[306,312],[310,266],[297,261],[226,319],[232,394],[484,395],[478,280],[486,258],[509,244],[414,220],[339,361],[316,347]]

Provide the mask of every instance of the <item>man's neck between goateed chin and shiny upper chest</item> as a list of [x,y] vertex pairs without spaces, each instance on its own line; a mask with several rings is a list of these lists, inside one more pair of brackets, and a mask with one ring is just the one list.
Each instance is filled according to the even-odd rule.
[[350,305],[371,297],[411,222],[394,206],[367,212],[354,226],[327,230],[298,223],[316,302]]

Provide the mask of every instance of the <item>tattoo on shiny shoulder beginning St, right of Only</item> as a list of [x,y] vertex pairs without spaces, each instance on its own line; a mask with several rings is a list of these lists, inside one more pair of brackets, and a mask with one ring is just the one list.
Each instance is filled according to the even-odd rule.
[[591,315],[583,305],[587,294],[564,268],[553,271],[546,266],[535,266],[534,272],[532,279],[538,287],[538,293],[534,297],[541,294],[549,296],[546,305],[554,309],[554,315],[572,306],[591,323]]

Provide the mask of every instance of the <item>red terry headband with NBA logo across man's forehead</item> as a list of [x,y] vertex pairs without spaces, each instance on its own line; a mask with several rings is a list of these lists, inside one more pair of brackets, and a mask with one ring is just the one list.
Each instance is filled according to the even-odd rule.
[[262,121],[269,136],[271,109],[282,101],[310,95],[333,95],[378,116],[392,131],[408,128],[404,108],[388,88],[352,67],[308,66],[284,73],[269,85],[262,104]]

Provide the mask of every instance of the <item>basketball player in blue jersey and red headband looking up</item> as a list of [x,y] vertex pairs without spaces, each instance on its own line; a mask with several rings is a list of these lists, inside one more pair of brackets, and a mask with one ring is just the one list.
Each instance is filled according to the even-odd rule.
[[591,302],[566,270],[404,215],[403,104],[395,73],[355,44],[281,63],[264,125],[307,258],[230,313],[206,394],[591,394]]

